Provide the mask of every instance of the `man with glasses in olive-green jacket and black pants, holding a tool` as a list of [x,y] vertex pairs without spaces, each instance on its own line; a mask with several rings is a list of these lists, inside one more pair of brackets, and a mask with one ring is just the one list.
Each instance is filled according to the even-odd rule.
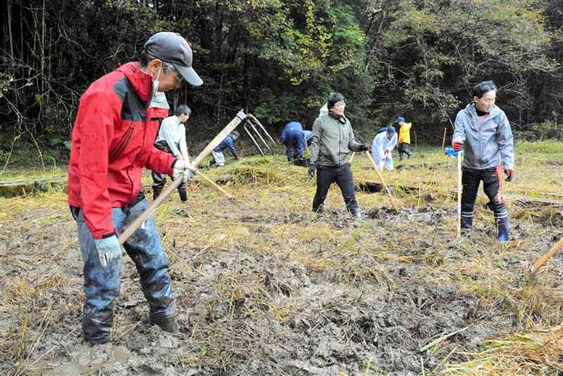
[[327,101],[328,113],[319,115],[312,125],[309,177],[317,171],[317,193],[312,210],[322,213],[324,199],[333,182],[339,185],[346,209],[360,220],[362,213],[354,190],[354,178],[348,161],[351,151],[366,151],[369,146],[356,142],[350,121],[344,116],[346,103],[340,93],[331,93]]

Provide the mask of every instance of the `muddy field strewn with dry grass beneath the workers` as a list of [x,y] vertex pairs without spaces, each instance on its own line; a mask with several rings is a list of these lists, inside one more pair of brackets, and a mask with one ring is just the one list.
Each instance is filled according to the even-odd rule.
[[[519,180],[507,187],[513,241],[495,242],[480,197],[474,236],[457,242],[455,160],[419,157],[384,175],[400,213],[384,193],[358,192],[359,225],[334,187],[325,214],[311,213],[315,185],[281,157],[210,171],[232,177],[224,187],[235,201],[198,184],[188,205],[174,193],[156,213],[181,333],[148,324],[139,275],[125,254],[113,341],[102,346],[82,341],[82,261],[63,190],[0,199],[0,374],[563,370],[562,258],[534,280],[524,275],[563,237],[563,208],[517,201],[540,179],[521,163]],[[377,181],[368,163],[354,161],[359,187]],[[553,162],[542,168],[558,171]],[[559,182],[541,179],[536,193],[560,192]],[[536,346],[523,347],[522,338]]]

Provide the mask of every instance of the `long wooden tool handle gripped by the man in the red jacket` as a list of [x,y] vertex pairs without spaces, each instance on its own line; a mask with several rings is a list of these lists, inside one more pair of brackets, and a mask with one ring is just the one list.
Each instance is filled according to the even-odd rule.
[[[201,161],[203,161],[203,159],[205,159],[205,157],[208,156],[211,151],[213,151],[213,149],[215,149],[215,147],[217,147],[217,145],[219,145],[225,139],[225,137],[227,137],[229,133],[231,133],[241,123],[242,120],[244,120],[244,118],[246,118],[246,114],[242,110],[239,111],[234,119],[231,120],[231,123],[227,124],[227,126],[224,127],[223,130],[219,132],[219,134],[217,134],[217,136],[215,136],[213,140],[211,140],[208,146],[205,146],[205,149],[203,149],[203,151],[201,151],[201,153],[196,156],[194,161],[191,161],[191,167],[196,168],[199,163],[201,163]],[[148,206],[148,208],[146,208],[146,211],[141,213],[141,215],[139,215],[139,217],[137,217],[131,223],[131,225],[127,226],[125,231],[120,234],[120,236],[118,237],[119,244],[125,243],[125,241],[129,239],[133,232],[135,232],[135,230],[137,230],[142,225],[148,215],[151,215],[154,211],[156,211],[156,208],[160,206],[160,203],[162,203],[168,196],[170,196],[170,194],[174,192],[179,184],[182,184],[182,179],[176,179],[172,181],[172,184],[170,184],[167,189],[165,189],[158,195],[156,200],[153,201],[151,205]]]

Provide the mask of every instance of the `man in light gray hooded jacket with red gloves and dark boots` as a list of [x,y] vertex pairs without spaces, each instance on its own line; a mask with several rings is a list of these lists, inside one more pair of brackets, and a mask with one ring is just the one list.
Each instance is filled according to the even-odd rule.
[[514,177],[514,137],[505,113],[495,106],[497,87],[483,81],[473,88],[473,101],[455,118],[452,146],[464,150],[462,164],[461,227],[468,237],[473,225],[473,210],[479,183],[488,196],[488,207],[495,213],[497,239],[510,239],[508,212],[502,197],[502,168],[507,181]]

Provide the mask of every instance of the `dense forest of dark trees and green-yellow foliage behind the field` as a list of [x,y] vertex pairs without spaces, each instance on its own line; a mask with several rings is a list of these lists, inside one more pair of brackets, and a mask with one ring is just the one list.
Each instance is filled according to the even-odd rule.
[[[191,43],[202,87],[168,95],[210,138],[240,108],[270,130],[310,128],[331,91],[357,133],[397,115],[418,142],[482,80],[520,139],[563,139],[563,0],[6,0],[0,2],[0,151],[68,142],[81,94],[155,32]],[[450,133],[450,132],[449,132]]]

